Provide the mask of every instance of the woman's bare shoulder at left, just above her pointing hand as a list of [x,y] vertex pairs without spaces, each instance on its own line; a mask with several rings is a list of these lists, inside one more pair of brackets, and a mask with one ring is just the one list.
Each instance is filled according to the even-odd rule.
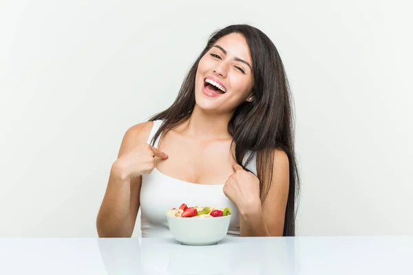
[[131,150],[139,144],[145,144],[151,133],[153,122],[147,121],[129,127],[123,135],[122,144],[120,144],[119,155]]

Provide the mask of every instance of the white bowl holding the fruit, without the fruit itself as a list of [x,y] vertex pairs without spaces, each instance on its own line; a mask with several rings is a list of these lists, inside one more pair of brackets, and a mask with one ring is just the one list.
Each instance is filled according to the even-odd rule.
[[212,218],[167,216],[173,238],[184,245],[213,245],[224,239],[231,215]]

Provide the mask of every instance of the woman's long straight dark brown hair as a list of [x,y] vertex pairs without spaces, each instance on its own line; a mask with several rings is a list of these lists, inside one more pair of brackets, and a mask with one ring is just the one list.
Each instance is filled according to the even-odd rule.
[[152,144],[162,132],[167,133],[189,118],[195,107],[195,75],[200,59],[218,39],[234,32],[244,36],[251,52],[255,98],[253,102],[245,102],[235,109],[228,124],[228,131],[233,137],[231,146],[235,148],[236,161],[246,170],[253,159],[251,154],[243,164],[246,152],[251,150],[257,153],[257,177],[260,179],[262,202],[266,199],[273,177],[275,149],[288,155],[290,184],[283,236],[295,236],[295,199],[299,193],[299,175],[294,151],[293,103],[277,48],[262,31],[251,25],[230,25],[211,35],[207,46],[184,78],[175,102],[149,119],[165,121],[154,135]]

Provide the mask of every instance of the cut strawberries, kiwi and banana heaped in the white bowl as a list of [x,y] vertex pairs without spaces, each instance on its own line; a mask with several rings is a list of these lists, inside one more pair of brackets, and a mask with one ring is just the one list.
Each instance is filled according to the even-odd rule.
[[209,206],[202,207],[188,207],[187,204],[182,203],[180,208],[172,208],[167,211],[167,216],[169,217],[181,217],[181,218],[213,218],[213,217],[224,217],[231,214],[231,209],[226,208],[216,208]]

